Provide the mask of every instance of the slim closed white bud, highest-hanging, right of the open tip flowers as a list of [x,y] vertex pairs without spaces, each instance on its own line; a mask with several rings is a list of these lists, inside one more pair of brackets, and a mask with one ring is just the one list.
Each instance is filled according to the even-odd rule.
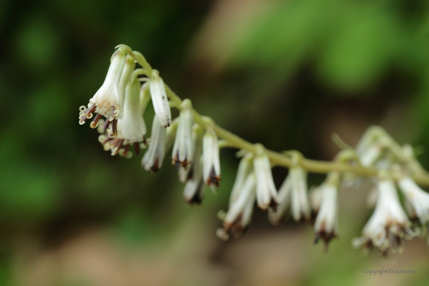
[[165,86],[162,79],[159,77],[158,70],[152,71],[152,77],[149,81],[153,109],[159,118],[159,123],[163,127],[170,126],[171,124],[171,110]]

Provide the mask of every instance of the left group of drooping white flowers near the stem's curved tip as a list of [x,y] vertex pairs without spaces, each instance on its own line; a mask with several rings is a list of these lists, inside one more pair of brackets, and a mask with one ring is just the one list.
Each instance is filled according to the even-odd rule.
[[[219,187],[221,181],[218,136],[211,127],[194,121],[194,109],[188,99],[177,106],[180,114],[172,120],[166,86],[159,72],[145,60],[141,68],[136,68],[139,59],[144,58],[130,47],[117,47],[103,85],[89,100],[88,108],[80,107],[79,123],[94,117],[90,127],[101,133],[99,141],[112,156],[131,158],[130,146],[137,156],[140,149],[149,146],[141,166],[153,174],[173,147],[172,164],[178,170],[179,180],[185,183],[185,201],[201,203],[204,185]],[[143,115],[150,100],[155,116],[151,137],[146,139]]]

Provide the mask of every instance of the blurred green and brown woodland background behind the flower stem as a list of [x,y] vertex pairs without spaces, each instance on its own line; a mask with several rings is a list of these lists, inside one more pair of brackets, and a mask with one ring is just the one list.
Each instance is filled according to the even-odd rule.
[[[222,150],[217,194],[189,207],[170,157],[152,176],[78,124],[127,44],[200,113],[269,149],[330,160],[332,132],[354,146],[373,124],[429,146],[427,1],[2,0],[0,43],[1,286],[427,285],[425,239],[389,259],[352,249],[368,187],[340,193],[326,254],[311,226],[273,227],[260,210],[225,243],[216,214],[235,150]],[[287,171],[273,173],[279,187]],[[362,272],[381,268],[415,273]]]

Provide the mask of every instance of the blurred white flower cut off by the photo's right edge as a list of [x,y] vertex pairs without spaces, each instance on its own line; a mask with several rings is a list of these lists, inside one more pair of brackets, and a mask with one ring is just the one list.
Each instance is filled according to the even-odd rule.
[[429,194],[424,192],[410,177],[403,177],[398,181],[398,185],[412,205],[420,223],[426,224],[429,221]]

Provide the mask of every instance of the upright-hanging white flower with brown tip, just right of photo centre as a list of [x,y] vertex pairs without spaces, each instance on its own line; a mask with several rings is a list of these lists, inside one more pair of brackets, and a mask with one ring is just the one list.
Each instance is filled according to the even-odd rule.
[[270,159],[264,147],[258,146],[257,155],[253,160],[253,169],[256,175],[256,201],[258,207],[267,209],[278,202],[277,190],[271,173]]

